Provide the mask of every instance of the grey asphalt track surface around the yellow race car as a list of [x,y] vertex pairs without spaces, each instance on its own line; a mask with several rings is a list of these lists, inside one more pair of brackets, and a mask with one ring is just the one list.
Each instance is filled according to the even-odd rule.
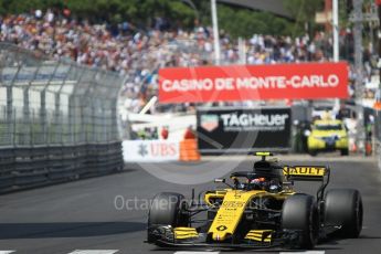
[[[295,159],[298,158],[292,158],[293,165],[307,165],[313,158]],[[325,165],[324,161],[325,158],[320,157],[313,163]],[[252,161],[242,161],[240,169],[252,168]],[[363,231],[360,239],[321,243],[315,253],[380,253],[381,173],[375,162],[348,157],[329,158],[329,165],[332,168],[329,188],[356,188],[362,193]],[[168,167],[174,169],[176,163]],[[118,174],[1,195],[0,254],[11,253],[6,250],[14,254],[176,253],[142,243],[147,220],[144,200],[160,191],[189,197],[191,187],[158,180],[137,166],[129,168]],[[195,188],[207,187],[209,184]],[[303,191],[311,190],[307,184],[300,188]],[[130,200],[129,209],[120,209],[124,200]],[[138,200],[135,209],[134,200]],[[181,251],[191,253],[191,250]]]

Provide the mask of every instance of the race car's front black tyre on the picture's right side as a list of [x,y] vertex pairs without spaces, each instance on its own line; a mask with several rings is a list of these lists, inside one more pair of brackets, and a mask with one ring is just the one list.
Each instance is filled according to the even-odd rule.
[[293,248],[313,248],[319,237],[319,216],[314,198],[295,194],[286,199],[282,209],[282,226],[299,233]]

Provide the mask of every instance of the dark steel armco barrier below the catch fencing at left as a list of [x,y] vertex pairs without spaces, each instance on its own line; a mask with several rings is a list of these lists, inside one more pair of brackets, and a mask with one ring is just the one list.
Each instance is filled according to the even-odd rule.
[[116,172],[121,144],[0,148],[0,193]]

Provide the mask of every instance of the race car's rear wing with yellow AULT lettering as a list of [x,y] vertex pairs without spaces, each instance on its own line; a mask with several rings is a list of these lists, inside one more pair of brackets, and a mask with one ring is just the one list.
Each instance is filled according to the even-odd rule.
[[317,200],[322,200],[326,187],[329,183],[330,169],[321,166],[286,166],[283,168],[283,173],[287,181],[294,184],[294,181],[321,181],[316,197]]

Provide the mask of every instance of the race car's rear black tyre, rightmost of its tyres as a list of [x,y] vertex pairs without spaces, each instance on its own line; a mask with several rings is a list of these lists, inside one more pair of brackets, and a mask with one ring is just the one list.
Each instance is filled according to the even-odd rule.
[[362,200],[358,190],[332,189],[325,198],[325,225],[341,226],[342,237],[356,239],[362,230]]

